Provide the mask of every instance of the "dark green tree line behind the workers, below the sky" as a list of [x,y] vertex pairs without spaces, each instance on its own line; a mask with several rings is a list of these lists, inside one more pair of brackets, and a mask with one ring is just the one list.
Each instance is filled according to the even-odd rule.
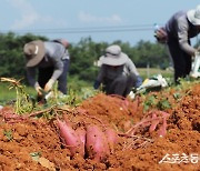
[[[13,32],[0,33],[0,77],[24,78],[26,81],[23,46],[38,39],[49,40],[46,37],[31,33],[24,36],[17,36]],[[70,43],[69,76],[88,82],[93,81],[99,70],[94,62],[104,54],[106,48],[113,43],[121,47],[122,51],[131,58],[137,68],[146,68],[147,64],[161,69],[169,67],[170,59],[163,44],[143,40],[140,40],[136,46],[120,40],[112,43],[97,43],[89,37],[81,39],[78,43]]]

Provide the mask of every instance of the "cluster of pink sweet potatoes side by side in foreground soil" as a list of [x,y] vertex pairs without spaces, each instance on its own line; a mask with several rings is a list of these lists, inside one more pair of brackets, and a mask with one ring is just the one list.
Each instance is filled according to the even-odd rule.
[[83,158],[102,161],[113,152],[118,134],[113,129],[102,129],[96,124],[73,130],[69,122],[57,120],[61,139],[71,152],[71,157],[79,153]]

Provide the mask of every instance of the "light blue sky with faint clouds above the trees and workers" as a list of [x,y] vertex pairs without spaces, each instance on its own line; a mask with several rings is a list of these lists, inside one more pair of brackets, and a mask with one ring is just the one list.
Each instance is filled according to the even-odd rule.
[[199,0],[0,0],[0,32],[31,32],[77,43],[154,41],[153,23],[164,24],[178,10]]

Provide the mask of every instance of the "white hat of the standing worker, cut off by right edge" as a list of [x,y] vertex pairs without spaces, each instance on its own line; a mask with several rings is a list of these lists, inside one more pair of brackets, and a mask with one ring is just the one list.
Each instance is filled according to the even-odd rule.
[[200,26],[200,6],[194,10],[189,10],[187,12],[187,18],[193,26]]

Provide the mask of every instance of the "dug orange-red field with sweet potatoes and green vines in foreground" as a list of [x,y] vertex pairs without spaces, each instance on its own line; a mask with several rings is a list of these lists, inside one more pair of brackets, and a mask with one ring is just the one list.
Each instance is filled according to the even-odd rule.
[[[99,92],[78,105],[70,104],[41,105],[23,114],[17,114],[13,105],[2,108],[0,170],[200,169],[199,81],[139,94],[134,100]],[[67,142],[61,122],[76,133],[84,132],[81,150],[74,152],[74,145]],[[90,128],[97,127],[102,133],[96,134],[99,151],[89,142]],[[107,130],[114,131],[110,135],[114,140]]]

